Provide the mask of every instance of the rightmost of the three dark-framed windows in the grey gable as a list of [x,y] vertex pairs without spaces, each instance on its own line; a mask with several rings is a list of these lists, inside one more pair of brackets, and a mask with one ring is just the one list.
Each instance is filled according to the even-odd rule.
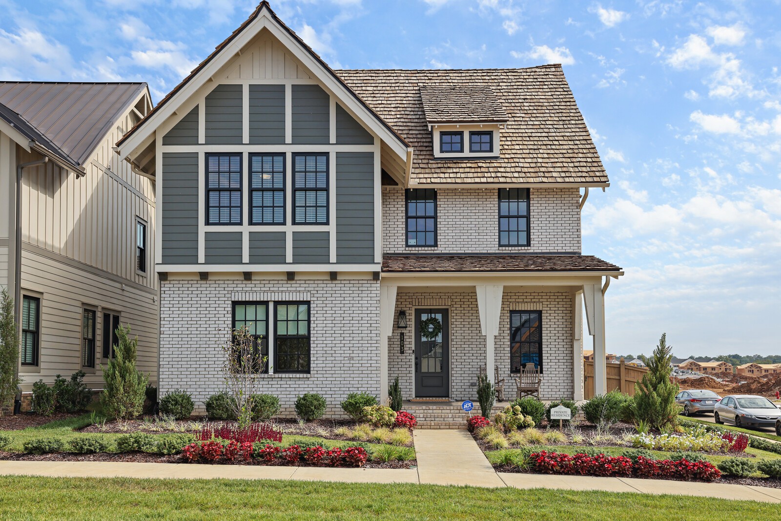
[[293,155],[294,224],[328,224],[328,155]]

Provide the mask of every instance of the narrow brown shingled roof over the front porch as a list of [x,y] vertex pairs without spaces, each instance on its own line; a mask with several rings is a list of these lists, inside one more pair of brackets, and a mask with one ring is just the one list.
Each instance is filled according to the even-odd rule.
[[592,255],[384,255],[383,273],[615,272]]

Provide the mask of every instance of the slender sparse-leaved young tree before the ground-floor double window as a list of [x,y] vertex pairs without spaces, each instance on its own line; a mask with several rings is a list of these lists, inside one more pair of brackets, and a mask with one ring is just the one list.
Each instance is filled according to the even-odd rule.
[[230,343],[223,349],[223,379],[228,394],[228,406],[238,419],[239,427],[252,423],[252,395],[259,394],[258,374],[266,369],[269,357],[260,356],[255,337],[246,326],[232,330]]

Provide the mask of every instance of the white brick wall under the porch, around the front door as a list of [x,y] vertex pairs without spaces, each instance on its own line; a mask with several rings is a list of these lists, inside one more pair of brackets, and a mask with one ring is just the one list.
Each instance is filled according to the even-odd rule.
[[[415,308],[447,308],[450,320],[450,398],[471,399],[476,396],[477,372],[485,366],[486,339],[480,334],[480,314],[474,289],[453,292],[407,293],[399,289],[394,316],[404,309],[405,354],[399,353],[399,330],[394,324],[388,341],[389,384],[399,377],[402,396],[413,398],[415,367]],[[542,311],[543,382],[540,397],[546,400],[572,398],[572,294],[569,291],[521,291],[505,287],[502,297],[499,335],[495,339],[495,359],[501,377],[505,378],[505,395],[515,396],[515,381],[510,374],[509,317],[511,310]],[[493,375],[491,375],[493,379]]]

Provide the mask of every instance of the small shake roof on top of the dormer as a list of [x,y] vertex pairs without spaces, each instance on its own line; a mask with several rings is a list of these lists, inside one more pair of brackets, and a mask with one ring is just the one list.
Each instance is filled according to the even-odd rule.
[[505,108],[487,85],[421,85],[426,122],[504,123]]

